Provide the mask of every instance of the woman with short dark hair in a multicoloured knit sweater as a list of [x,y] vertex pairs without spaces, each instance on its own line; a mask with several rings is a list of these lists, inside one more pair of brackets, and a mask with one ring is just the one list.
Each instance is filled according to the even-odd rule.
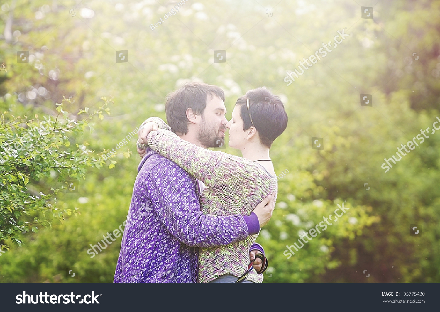
[[[151,122],[148,124],[148,122]],[[180,165],[205,185],[201,209],[213,216],[246,214],[267,195],[277,192],[277,178],[269,149],[287,126],[284,104],[266,88],[250,90],[235,103],[227,123],[229,146],[241,150],[243,157],[207,150],[180,139],[160,118],[147,119],[148,145]],[[145,132],[143,132],[145,134]],[[139,148],[145,148],[139,146]],[[249,247],[258,235],[245,240],[199,251],[199,281],[235,282],[249,262]],[[262,282],[263,276],[250,271],[246,279]]]

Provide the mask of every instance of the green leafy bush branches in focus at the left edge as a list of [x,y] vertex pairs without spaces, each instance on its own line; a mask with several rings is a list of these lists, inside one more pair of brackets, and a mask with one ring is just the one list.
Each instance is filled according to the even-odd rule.
[[[51,225],[52,220],[64,220],[75,209],[59,209],[54,204],[55,195],[67,186],[51,187],[51,193],[38,192],[32,184],[43,184],[44,179],[57,176],[58,181],[84,179],[87,167],[101,168],[105,163],[101,155],[93,155],[88,143],[71,146],[74,137],[80,136],[93,116],[109,113],[105,102],[92,114],[88,107],[78,115],[87,117],[77,121],[63,110],[63,102],[56,103],[58,114],[44,121],[20,116],[1,114],[0,121],[0,241],[12,239],[22,245],[20,232],[37,232],[37,225]],[[70,103],[69,99],[64,99]],[[109,113],[110,114],[110,113]],[[66,182],[67,184],[67,182]],[[23,217],[23,216],[27,217]],[[28,220],[28,221],[26,221]],[[6,246],[7,247],[7,246]]]

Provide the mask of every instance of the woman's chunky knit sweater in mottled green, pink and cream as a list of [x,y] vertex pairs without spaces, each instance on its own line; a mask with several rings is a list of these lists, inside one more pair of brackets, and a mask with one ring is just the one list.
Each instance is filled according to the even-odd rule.
[[[158,117],[147,121],[154,121],[159,125],[159,130],[150,132],[147,137],[150,148],[205,183],[201,196],[204,214],[214,217],[249,215],[267,195],[278,191],[276,177],[270,177],[249,159],[208,150],[180,139]],[[199,281],[210,282],[223,274],[241,276],[246,272],[249,248],[257,236],[258,234],[249,235],[242,241],[226,246],[201,248]],[[258,283],[263,281],[263,275],[252,270],[246,279]]]

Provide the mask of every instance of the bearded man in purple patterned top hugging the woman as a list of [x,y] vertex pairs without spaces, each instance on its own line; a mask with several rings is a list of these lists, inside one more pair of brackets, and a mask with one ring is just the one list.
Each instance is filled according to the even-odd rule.
[[[180,138],[200,147],[224,143],[227,120],[220,88],[186,84],[167,97],[165,110]],[[150,149],[141,154],[114,282],[197,282],[196,247],[246,239],[269,221],[271,196],[250,216],[204,215],[199,198],[203,186],[194,177]],[[252,246],[249,257],[254,259],[257,251],[264,252]],[[254,261],[257,272],[261,266],[260,259]]]

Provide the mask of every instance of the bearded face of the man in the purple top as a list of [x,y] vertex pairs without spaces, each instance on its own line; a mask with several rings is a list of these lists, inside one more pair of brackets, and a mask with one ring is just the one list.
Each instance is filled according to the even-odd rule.
[[216,95],[208,95],[206,108],[202,114],[202,122],[197,132],[197,139],[203,146],[219,147],[224,145],[227,124],[225,114],[226,106],[224,106],[223,100]]

